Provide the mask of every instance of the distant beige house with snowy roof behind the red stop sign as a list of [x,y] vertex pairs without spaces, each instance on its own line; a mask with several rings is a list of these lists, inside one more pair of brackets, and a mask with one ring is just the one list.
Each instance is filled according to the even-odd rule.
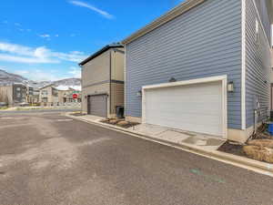
[[[59,105],[66,103],[80,103],[81,102],[81,87],[80,86],[58,86],[58,102]],[[73,95],[76,94],[77,98],[74,98]]]

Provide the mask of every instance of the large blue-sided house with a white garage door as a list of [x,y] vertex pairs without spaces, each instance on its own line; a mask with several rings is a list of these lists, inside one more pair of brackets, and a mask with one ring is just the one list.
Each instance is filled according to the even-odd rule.
[[187,0],[127,37],[126,118],[246,141],[270,107],[272,5]]

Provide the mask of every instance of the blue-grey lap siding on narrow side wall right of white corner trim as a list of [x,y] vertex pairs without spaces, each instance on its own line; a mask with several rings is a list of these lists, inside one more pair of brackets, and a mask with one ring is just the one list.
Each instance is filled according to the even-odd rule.
[[258,97],[261,115],[258,121],[267,118],[270,103],[270,50],[266,35],[259,25],[258,45],[256,43],[256,19],[258,12],[252,0],[247,1],[247,72],[246,72],[246,108],[247,128],[254,124],[254,98]]

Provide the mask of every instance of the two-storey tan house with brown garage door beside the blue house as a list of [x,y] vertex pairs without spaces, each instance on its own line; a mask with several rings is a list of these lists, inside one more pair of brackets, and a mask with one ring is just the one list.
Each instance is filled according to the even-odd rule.
[[124,48],[108,45],[79,64],[82,67],[82,109],[104,118],[115,118],[124,106]]

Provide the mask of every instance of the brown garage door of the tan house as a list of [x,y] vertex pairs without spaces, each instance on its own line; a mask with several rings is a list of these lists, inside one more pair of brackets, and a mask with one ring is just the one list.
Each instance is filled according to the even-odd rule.
[[106,118],[107,116],[107,96],[89,96],[88,114]]

